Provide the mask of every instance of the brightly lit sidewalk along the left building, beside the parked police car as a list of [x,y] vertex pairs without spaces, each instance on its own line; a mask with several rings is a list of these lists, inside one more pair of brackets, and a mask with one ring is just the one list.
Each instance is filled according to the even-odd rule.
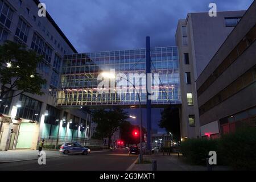
[[[48,159],[50,158],[62,158],[71,155],[61,154],[59,151],[49,151],[44,150]],[[92,153],[105,152],[102,151],[92,151]],[[19,162],[26,160],[38,160],[38,151],[37,150],[9,150],[9,151],[0,151],[0,164],[7,162]]]

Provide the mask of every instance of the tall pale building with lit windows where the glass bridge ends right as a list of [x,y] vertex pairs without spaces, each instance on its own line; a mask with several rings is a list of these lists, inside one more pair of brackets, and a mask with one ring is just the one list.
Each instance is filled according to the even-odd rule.
[[180,19],[176,30],[179,47],[181,90],[180,125],[182,138],[200,137],[200,119],[195,81],[245,11],[189,13]]

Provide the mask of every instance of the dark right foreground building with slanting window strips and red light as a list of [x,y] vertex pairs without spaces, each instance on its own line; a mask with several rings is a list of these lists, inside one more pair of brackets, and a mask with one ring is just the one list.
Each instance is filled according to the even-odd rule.
[[[218,137],[238,127],[255,127],[255,12],[256,1],[196,80],[202,136]],[[235,25],[238,20],[232,22]]]

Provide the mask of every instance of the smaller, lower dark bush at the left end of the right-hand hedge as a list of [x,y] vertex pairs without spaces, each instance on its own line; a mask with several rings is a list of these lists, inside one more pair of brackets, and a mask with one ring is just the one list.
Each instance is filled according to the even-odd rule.
[[181,154],[191,164],[206,165],[205,159],[209,158],[209,151],[217,152],[217,148],[218,140],[188,139],[180,144]]

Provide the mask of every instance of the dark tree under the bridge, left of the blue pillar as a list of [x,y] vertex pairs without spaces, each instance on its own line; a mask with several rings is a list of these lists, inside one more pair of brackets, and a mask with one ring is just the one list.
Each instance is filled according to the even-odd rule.
[[94,138],[108,138],[108,147],[113,134],[118,131],[122,122],[129,118],[127,113],[122,109],[116,108],[113,110],[94,110],[92,112],[92,120],[97,124]]

